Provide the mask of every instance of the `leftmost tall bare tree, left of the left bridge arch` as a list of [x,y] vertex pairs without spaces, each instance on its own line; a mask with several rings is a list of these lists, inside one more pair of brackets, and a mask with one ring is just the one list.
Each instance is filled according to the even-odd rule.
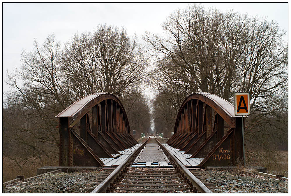
[[[21,69],[16,69],[14,74],[8,74],[11,89],[6,94],[6,104],[17,106],[23,112],[19,118],[23,117],[26,122],[18,127],[21,131],[16,132],[16,135],[26,132],[30,136],[20,135],[19,141],[45,153],[46,156],[49,156],[47,152],[50,150],[40,150],[43,146],[38,146],[39,143],[32,140],[57,145],[59,137],[54,115],[69,105],[59,72],[59,54],[60,44],[54,36],[48,36],[42,46],[35,41],[33,52],[23,51]],[[33,128],[26,126],[27,122],[35,122]]]

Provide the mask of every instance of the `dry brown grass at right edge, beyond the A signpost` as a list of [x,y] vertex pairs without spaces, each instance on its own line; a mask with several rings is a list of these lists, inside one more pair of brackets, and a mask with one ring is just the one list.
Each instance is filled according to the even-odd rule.
[[288,178],[288,151],[276,151],[272,154],[262,154],[264,156],[252,160],[252,166],[262,166],[267,168],[267,173],[274,175],[284,175]]

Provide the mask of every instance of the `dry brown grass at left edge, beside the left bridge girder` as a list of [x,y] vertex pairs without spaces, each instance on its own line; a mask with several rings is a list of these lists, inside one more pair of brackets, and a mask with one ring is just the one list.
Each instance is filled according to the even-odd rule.
[[58,159],[43,158],[41,161],[38,159],[33,162],[33,164],[24,164],[19,167],[8,157],[2,157],[2,183],[15,179],[16,176],[24,176],[24,178],[36,176],[36,170],[43,166],[59,165]]

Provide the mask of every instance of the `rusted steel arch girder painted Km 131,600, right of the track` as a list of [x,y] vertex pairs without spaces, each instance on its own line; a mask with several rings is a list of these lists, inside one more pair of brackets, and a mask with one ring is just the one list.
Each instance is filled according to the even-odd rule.
[[211,93],[193,93],[181,104],[167,144],[199,158],[200,166],[235,165],[243,157],[241,125],[230,102]]

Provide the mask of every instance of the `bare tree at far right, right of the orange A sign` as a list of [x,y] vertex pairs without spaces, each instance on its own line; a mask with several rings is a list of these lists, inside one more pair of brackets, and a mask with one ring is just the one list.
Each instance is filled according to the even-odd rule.
[[240,61],[243,77],[236,91],[250,92],[252,115],[247,121],[246,141],[251,149],[260,146],[270,154],[278,146],[266,141],[276,143],[281,137],[279,140],[288,143],[288,46],[276,22],[255,17],[247,27],[248,42]]

